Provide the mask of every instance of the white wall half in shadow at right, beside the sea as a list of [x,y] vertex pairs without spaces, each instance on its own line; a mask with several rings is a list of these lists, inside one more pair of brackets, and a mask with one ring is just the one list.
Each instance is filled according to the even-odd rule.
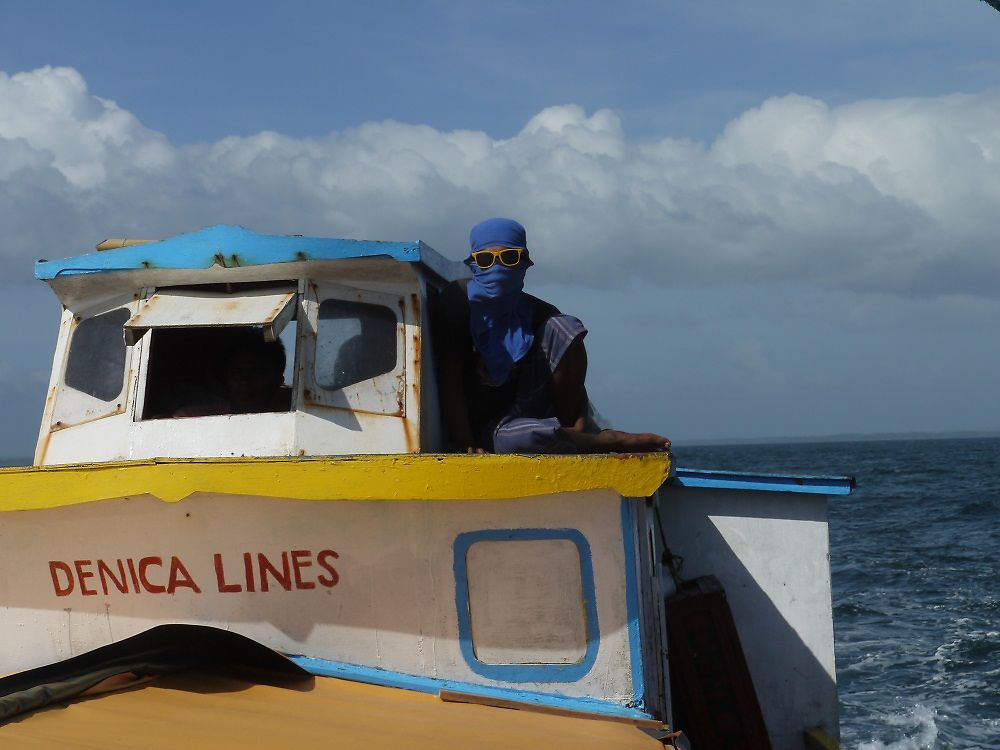
[[801,750],[812,727],[839,735],[826,504],[788,492],[660,491],[683,577],[714,575],[725,588],[775,750]]

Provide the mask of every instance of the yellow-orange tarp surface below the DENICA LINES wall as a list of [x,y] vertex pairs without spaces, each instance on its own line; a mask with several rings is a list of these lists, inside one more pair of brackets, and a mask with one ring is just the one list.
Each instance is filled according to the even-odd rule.
[[662,750],[636,727],[317,677],[295,688],[202,674],[81,699],[0,726],[0,747]]

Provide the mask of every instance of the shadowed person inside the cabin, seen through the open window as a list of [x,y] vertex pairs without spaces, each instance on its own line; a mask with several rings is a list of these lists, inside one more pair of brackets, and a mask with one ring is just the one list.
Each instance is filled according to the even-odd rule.
[[235,332],[227,343],[221,360],[224,393],[183,406],[173,416],[288,411],[291,392],[284,387],[285,345],[280,340],[265,341],[263,333],[253,329]]

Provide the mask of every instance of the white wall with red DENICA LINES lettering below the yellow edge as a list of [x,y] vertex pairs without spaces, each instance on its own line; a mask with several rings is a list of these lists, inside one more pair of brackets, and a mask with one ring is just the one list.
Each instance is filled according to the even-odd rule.
[[[539,532],[550,537],[538,541]],[[560,590],[582,586],[595,607],[590,622],[597,631],[592,660],[573,679],[549,681],[551,664],[566,654],[546,640],[546,627],[535,627],[523,641],[509,630],[485,644],[512,652],[518,675],[484,673],[463,651],[457,560],[479,553],[509,558],[512,549],[520,554],[519,535],[525,534],[535,534],[536,541],[529,542],[532,553],[523,556],[518,575],[488,564],[469,568],[472,608],[479,611],[485,603],[509,622],[546,613],[571,622],[557,610],[575,609],[580,618],[586,602],[546,592],[553,584]],[[507,535],[512,541],[505,541]],[[574,538],[584,540],[583,546],[574,547]],[[462,557],[463,549],[477,554]],[[272,580],[264,591],[257,554],[280,565],[282,555],[294,550],[304,551],[301,558],[309,563],[300,571],[307,585],[286,590]],[[323,550],[336,553],[327,556],[338,574],[333,586],[317,583]],[[247,588],[244,553],[253,561],[255,590]],[[621,498],[610,490],[472,501],[293,501],[203,493],[166,503],[145,495],[2,514],[0,558],[6,592],[0,642],[14,644],[3,652],[4,672],[67,658],[160,623],[189,622],[242,633],[287,653],[421,678],[618,706],[633,698]],[[99,573],[98,560],[112,571],[120,560],[122,570],[134,567],[138,577],[128,580],[124,573],[127,590],[119,591]],[[181,585],[172,593],[152,591],[169,586],[174,560],[183,566]],[[589,583],[584,569],[591,571]],[[473,641],[493,639],[495,628],[480,621],[472,627]],[[502,656],[494,649],[491,658]],[[533,663],[539,659],[547,663]]]

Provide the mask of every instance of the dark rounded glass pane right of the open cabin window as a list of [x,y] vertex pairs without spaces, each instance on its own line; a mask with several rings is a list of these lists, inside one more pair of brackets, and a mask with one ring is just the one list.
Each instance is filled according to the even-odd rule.
[[396,315],[388,307],[328,299],[319,306],[316,382],[336,391],[396,369]]

